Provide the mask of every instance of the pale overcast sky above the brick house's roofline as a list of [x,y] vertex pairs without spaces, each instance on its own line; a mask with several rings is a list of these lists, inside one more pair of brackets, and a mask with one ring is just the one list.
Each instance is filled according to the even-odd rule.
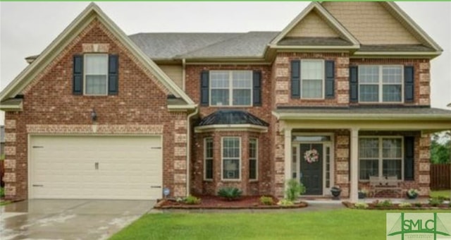
[[[0,2],[0,90],[89,2]],[[137,32],[280,31],[308,4],[295,2],[97,2],[126,34]],[[451,2],[397,4],[444,52],[431,61],[431,105],[450,109]],[[1,111],[0,111],[1,112]],[[3,112],[1,112],[3,114]],[[3,124],[0,115],[0,124]]]

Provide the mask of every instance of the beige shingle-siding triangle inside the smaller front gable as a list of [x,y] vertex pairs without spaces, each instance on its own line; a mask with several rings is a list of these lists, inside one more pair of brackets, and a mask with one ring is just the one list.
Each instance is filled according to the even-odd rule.
[[338,37],[338,34],[317,13],[311,11],[286,37]]

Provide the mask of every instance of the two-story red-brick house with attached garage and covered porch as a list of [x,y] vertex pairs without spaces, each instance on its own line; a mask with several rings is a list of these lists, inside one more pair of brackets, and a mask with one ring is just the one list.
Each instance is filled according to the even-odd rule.
[[[281,32],[127,36],[95,4],[0,96],[6,196],[429,191],[442,49],[393,2],[313,2]],[[385,194],[391,194],[387,192]]]

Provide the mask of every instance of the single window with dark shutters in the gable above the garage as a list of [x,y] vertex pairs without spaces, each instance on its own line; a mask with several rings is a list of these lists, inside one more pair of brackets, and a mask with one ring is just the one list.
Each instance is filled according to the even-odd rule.
[[108,55],[85,54],[85,95],[108,92]]

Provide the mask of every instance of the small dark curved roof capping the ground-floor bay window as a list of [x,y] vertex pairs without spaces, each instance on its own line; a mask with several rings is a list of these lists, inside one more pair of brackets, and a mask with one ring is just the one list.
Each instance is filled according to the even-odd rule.
[[209,125],[252,124],[256,126],[269,126],[266,121],[259,119],[249,112],[241,110],[218,110],[202,119],[198,126]]

